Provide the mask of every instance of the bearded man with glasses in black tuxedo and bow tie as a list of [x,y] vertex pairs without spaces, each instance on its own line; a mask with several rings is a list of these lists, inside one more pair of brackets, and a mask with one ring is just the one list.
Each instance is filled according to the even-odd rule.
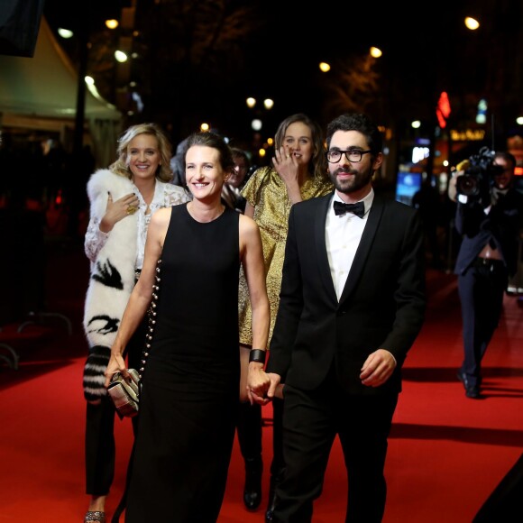
[[382,138],[366,115],[335,118],[326,143],[335,192],[291,208],[267,365],[268,397],[284,384],[274,521],[311,521],[337,434],[346,520],[376,523],[400,369],[425,315],[424,237],[416,209],[372,189]]

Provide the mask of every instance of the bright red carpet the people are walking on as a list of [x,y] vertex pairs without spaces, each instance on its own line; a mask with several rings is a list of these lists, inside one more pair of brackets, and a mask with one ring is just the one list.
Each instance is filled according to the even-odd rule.
[[[406,362],[390,437],[384,523],[472,522],[523,452],[523,324],[517,298],[505,298],[500,327],[484,360],[484,399],[466,399],[455,377],[462,359],[455,277],[429,271],[427,283],[427,321]],[[67,315],[73,334],[67,334],[60,319],[48,326],[29,326],[29,340],[9,342],[19,346],[19,370],[0,361],[0,521],[74,523],[82,521],[87,509],[81,389],[87,345],[80,327],[86,288],[87,261],[81,247],[50,245],[47,308]],[[6,335],[4,329],[0,343]],[[264,416],[271,417],[270,407]],[[129,420],[116,420],[116,437],[109,518],[124,485],[131,447]],[[235,445],[220,523],[263,521],[270,425],[264,427],[263,437],[261,508],[254,513],[243,509],[243,462]],[[344,521],[345,485],[336,442],[324,493],[315,506],[315,522]]]

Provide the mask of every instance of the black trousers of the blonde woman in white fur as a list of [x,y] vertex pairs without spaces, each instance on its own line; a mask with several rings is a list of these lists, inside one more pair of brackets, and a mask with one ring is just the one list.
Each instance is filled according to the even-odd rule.
[[[141,366],[147,325],[146,316],[125,349],[129,368]],[[135,434],[138,416],[132,418],[132,423]],[[115,405],[107,395],[98,405],[87,403],[85,452],[86,493],[106,496],[115,478]]]

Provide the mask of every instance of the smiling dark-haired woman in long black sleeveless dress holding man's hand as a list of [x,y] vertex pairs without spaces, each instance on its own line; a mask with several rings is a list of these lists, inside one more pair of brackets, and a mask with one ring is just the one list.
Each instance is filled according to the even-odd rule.
[[[220,201],[234,166],[231,151],[220,136],[196,133],[188,139],[185,159],[193,200],[152,216],[142,275],[106,372],[106,385],[114,372],[125,375],[125,344],[158,285],[142,372],[128,523],[210,523],[218,517],[238,414],[240,264],[254,312],[253,347],[267,344],[270,309],[260,232],[251,218]],[[249,390],[268,383],[263,365],[250,363]]]

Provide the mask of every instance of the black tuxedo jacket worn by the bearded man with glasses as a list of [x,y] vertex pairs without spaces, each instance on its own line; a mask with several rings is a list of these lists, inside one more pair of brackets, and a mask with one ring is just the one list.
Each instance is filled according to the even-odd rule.
[[[315,389],[335,363],[338,380],[357,394],[400,390],[400,369],[425,316],[425,251],[417,210],[375,195],[338,303],[326,252],[331,195],[291,207],[267,372]],[[362,385],[370,353],[390,351],[398,366],[384,385]]]

